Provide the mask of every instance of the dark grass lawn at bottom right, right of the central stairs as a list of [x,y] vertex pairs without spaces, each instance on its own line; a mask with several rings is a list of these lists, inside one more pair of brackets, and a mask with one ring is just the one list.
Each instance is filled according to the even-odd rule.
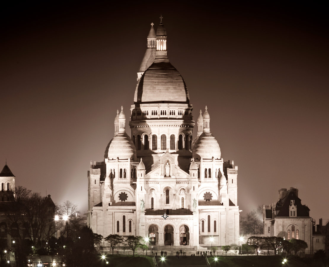
[[[256,266],[266,266],[266,267],[308,267],[308,266],[327,266],[321,264],[312,258],[299,258],[298,256],[282,256],[282,255],[271,255],[271,256],[218,256],[217,264],[214,259],[215,257],[208,257],[211,267],[256,267]],[[282,264],[283,259],[286,258],[287,262]]]

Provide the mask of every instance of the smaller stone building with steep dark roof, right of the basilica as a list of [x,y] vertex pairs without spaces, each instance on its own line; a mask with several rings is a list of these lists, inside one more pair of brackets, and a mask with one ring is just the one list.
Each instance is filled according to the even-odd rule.
[[269,207],[263,207],[263,222],[265,236],[279,236],[286,240],[292,238],[304,240],[308,248],[306,254],[312,253],[312,218],[310,209],[302,205],[298,198],[298,189],[279,190],[278,202]]

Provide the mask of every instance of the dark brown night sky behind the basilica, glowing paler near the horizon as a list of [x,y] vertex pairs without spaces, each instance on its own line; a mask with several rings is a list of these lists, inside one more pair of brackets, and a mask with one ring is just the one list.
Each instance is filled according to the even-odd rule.
[[162,14],[194,120],[207,105],[222,157],[239,166],[240,215],[297,187],[310,216],[328,220],[327,7],[162,2],[2,6],[0,168],[7,158],[16,186],[85,212],[90,160],[104,160],[121,105],[130,134],[136,72]]

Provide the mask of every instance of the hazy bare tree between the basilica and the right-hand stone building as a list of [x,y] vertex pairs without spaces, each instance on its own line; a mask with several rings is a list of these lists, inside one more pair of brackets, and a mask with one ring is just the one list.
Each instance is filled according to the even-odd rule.
[[263,234],[263,215],[253,210],[240,216],[240,232],[242,234]]

